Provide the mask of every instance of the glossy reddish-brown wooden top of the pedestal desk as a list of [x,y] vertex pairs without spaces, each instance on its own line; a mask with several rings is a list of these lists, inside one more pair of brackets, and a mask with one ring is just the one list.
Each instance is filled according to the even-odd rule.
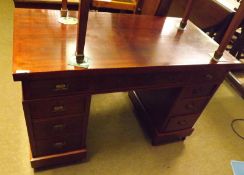
[[77,26],[60,24],[59,16],[55,10],[15,9],[15,80],[54,72],[240,65],[228,53],[219,63],[210,63],[209,53],[218,45],[191,22],[181,31],[178,18],[90,13],[85,45],[89,68],[71,66],[68,60],[75,55]]

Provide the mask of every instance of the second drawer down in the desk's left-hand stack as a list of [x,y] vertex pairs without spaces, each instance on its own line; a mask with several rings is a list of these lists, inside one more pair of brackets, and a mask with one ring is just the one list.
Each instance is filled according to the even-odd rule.
[[24,101],[32,118],[47,118],[82,114],[86,111],[87,96],[63,96],[41,100]]

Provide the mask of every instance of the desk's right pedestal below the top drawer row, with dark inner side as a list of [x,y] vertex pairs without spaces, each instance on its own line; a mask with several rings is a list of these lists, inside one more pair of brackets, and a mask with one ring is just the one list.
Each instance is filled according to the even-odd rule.
[[184,140],[217,85],[130,91],[136,116],[153,145]]

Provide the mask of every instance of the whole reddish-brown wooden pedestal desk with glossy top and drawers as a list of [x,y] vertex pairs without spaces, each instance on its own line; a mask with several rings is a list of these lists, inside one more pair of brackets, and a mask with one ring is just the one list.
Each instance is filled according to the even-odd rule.
[[[71,13],[71,15],[77,15]],[[230,69],[228,53],[211,63],[217,44],[180,19],[90,13],[85,55],[89,68],[68,65],[76,25],[59,11],[15,9],[13,78],[22,82],[23,108],[34,168],[86,157],[91,96],[129,91],[152,143],[182,140]]]

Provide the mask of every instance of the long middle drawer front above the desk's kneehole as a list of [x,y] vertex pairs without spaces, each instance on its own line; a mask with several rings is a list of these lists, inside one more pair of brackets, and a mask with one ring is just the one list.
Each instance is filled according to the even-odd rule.
[[152,72],[133,76],[125,74],[98,75],[92,81],[91,91],[96,93],[113,89],[128,90],[137,87],[176,86],[186,84],[189,80],[189,75],[185,72]]

